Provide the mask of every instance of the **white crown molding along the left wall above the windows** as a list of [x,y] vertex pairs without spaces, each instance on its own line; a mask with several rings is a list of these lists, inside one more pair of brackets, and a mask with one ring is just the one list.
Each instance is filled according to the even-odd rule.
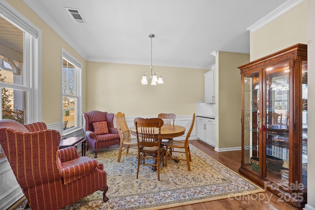
[[33,12],[35,12],[39,18],[41,18],[52,30],[54,30],[68,45],[70,45],[83,59],[87,60],[87,55],[83,52],[83,50],[76,45],[70,36],[64,32],[62,28],[58,26],[58,24],[44,12],[44,9],[38,5],[38,3],[34,0],[22,0],[26,5],[28,5]]

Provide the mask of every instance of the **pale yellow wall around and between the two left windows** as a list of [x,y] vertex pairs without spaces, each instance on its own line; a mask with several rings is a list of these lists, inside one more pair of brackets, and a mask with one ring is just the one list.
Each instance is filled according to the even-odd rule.
[[[44,23],[22,0],[6,1],[42,31],[42,121],[47,124],[62,122],[61,49],[65,49],[83,64],[83,78],[86,75],[86,61],[57,35],[54,30]],[[83,86],[85,84],[85,80],[83,80]]]

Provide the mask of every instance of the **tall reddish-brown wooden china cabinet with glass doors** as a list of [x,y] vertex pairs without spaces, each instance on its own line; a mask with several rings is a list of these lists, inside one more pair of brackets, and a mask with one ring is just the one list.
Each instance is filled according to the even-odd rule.
[[239,172],[296,207],[307,199],[307,45],[239,67],[242,163]]

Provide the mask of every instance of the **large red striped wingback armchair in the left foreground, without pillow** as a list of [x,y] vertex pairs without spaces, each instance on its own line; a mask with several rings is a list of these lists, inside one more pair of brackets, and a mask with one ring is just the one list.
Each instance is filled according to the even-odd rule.
[[103,165],[75,147],[59,150],[60,140],[44,122],[0,120],[1,147],[32,210],[58,210],[99,189],[108,201]]

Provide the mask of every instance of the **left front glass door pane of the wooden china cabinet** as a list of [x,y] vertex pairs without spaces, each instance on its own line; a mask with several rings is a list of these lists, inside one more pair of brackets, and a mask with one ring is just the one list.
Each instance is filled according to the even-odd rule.
[[243,78],[244,167],[259,173],[259,72]]

